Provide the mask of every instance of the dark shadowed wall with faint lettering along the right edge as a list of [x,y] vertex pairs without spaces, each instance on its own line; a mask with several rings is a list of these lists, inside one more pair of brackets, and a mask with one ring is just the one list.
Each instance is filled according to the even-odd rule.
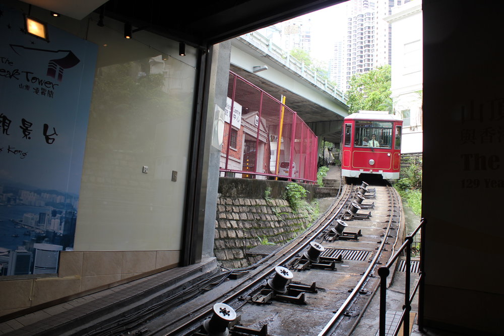
[[[470,335],[501,335],[504,316],[503,11],[502,2],[423,0],[425,318]],[[484,200],[497,209],[483,210]]]

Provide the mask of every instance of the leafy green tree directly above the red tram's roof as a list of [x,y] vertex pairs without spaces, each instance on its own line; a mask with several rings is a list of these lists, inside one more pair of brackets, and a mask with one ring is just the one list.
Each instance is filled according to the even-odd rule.
[[350,79],[348,95],[348,112],[359,110],[388,110],[392,109],[390,98],[391,67],[382,65],[368,73],[354,75]]

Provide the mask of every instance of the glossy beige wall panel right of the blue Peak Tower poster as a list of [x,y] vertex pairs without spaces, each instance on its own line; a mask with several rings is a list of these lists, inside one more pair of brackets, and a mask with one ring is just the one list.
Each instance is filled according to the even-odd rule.
[[[89,39],[103,45],[103,29],[90,25]],[[178,56],[178,42],[146,31],[128,43],[122,34],[107,37],[98,53],[75,249],[179,250],[186,179],[194,175],[187,159],[196,51]]]

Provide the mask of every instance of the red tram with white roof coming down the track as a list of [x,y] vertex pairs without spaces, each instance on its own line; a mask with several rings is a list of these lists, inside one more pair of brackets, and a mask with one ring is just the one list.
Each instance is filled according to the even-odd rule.
[[379,174],[399,178],[403,120],[386,111],[359,111],[347,116],[341,132],[341,175]]

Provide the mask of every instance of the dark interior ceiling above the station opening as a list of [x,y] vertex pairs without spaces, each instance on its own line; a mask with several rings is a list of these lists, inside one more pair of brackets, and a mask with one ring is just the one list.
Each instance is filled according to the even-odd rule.
[[195,47],[207,47],[346,0],[109,0],[96,12],[133,29],[146,29]]

